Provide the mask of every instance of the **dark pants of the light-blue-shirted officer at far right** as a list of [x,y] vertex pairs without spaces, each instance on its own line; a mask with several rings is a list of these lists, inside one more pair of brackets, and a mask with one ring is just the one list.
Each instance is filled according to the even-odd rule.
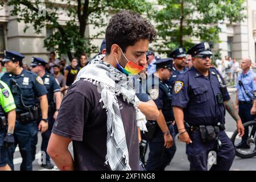
[[[238,114],[242,120],[242,123],[246,123],[248,121],[252,121],[255,117],[255,115],[251,115],[251,107],[252,104],[239,104],[239,111]],[[248,128],[245,129],[245,134],[242,137],[242,143],[245,143],[248,138]]]

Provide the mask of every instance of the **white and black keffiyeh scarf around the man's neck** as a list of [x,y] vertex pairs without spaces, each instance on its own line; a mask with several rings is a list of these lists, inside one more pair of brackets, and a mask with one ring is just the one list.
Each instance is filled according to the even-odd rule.
[[137,126],[142,131],[147,131],[147,121],[144,114],[138,109],[139,100],[135,96],[132,78],[102,61],[104,56],[97,56],[96,59],[82,68],[75,82],[84,79],[84,81],[92,82],[93,85],[97,86],[98,92],[101,93],[100,102],[103,102],[103,108],[106,109],[107,115],[108,135],[105,164],[109,164],[113,171],[127,171],[131,168],[117,96],[121,94],[124,101],[134,105],[137,113]]

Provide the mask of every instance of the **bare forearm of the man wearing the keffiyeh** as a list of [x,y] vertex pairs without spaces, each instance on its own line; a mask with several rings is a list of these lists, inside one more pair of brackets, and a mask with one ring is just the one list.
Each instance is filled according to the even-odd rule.
[[68,150],[68,145],[71,141],[72,139],[54,133],[51,134],[49,139],[47,153],[61,171],[74,170],[73,158]]

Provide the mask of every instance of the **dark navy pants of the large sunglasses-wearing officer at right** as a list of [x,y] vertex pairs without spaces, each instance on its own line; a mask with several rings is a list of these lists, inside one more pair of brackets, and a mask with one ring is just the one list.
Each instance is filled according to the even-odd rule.
[[235,150],[225,131],[220,131],[219,133],[222,143],[222,147],[219,150],[217,150],[216,140],[203,143],[199,131],[194,131],[189,137],[192,143],[187,144],[186,153],[190,162],[191,171],[207,171],[208,164],[213,164],[210,163],[211,160],[208,163],[209,152],[210,154],[216,154],[213,156],[217,158],[216,164],[212,165],[210,171],[228,171],[230,169],[235,157]]

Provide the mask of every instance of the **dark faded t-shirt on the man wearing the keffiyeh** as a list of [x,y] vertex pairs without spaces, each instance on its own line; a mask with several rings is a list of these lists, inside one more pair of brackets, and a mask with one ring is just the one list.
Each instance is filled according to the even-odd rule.
[[[106,160],[106,110],[99,102],[101,94],[97,86],[80,80],[71,86],[64,97],[52,133],[73,140],[75,170],[110,170]],[[139,170],[139,143],[136,112],[133,104],[127,104],[118,96],[129,164]]]

